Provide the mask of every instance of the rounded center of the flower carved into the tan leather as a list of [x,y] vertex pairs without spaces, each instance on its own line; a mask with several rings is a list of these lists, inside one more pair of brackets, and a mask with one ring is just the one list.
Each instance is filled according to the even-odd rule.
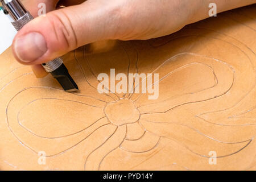
[[114,125],[122,126],[126,123],[135,123],[139,120],[140,113],[130,100],[119,100],[106,105],[106,117]]

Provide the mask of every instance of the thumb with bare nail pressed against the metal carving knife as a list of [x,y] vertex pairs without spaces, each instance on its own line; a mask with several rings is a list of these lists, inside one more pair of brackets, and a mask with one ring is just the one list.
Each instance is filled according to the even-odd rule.
[[[110,3],[113,5],[113,3]],[[22,28],[13,42],[16,60],[22,64],[40,64],[84,44],[112,39],[115,7],[105,1],[86,1],[35,18]]]

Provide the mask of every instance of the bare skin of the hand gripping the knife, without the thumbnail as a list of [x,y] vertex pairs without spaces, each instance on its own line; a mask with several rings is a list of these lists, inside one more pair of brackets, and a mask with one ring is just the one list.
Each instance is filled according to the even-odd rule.
[[[40,63],[55,59],[85,44],[102,40],[146,40],[168,35],[185,25],[209,18],[212,0],[23,0],[36,17],[38,4],[46,3],[47,15],[39,16],[18,32],[13,53],[20,63],[32,65],[36,77],[47,73]],[[215,0],[218,13],[256,3],[256,0]],[[65,9],[56,7],[68,6]],[[30,32],[46,39],[47,52],[30,62],[18,54],[16,40]],[[23,41],[26,46],[26,40]],[[28,52],[28,56],[33,51]]]

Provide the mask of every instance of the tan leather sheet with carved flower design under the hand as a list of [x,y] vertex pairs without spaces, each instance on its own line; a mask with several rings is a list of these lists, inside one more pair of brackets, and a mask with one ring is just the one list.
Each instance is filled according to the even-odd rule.
[[[255,170],[255,18],[254,5],[163,38],[81,47],[64,56],[78,93],[35,78],[8,49],[0,169]],[[111,68],[158,73],[158,99],[98,93]]]

